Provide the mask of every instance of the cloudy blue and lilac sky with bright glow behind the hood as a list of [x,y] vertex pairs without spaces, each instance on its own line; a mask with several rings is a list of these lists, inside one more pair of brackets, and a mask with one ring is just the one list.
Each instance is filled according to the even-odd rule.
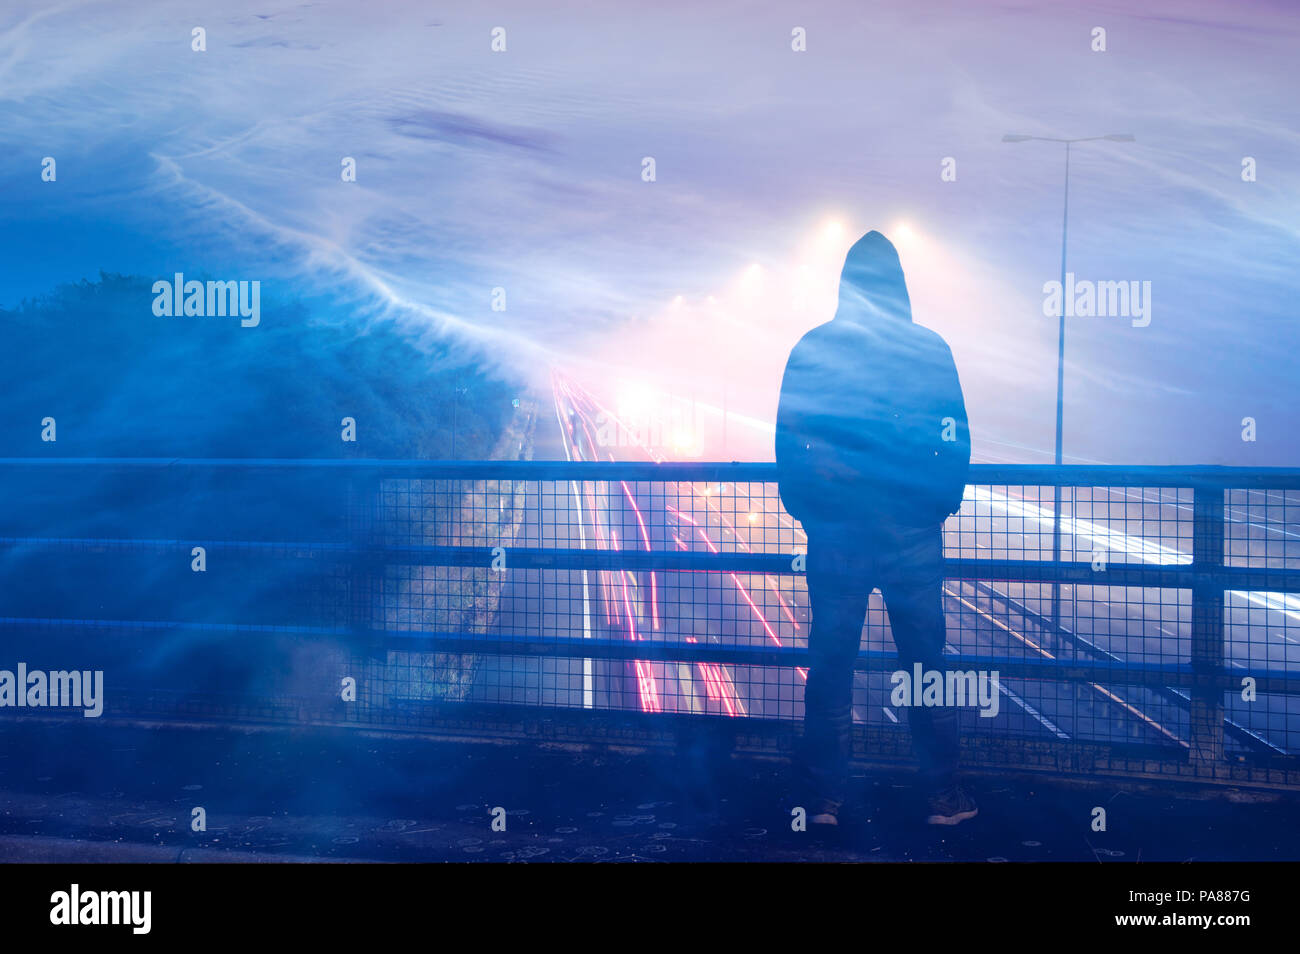
[[751,424],[729,455],[762,458],[784,357],[875,227],[976,456],[1043,460],[1065,156],[1001,138],[1131,133],[1072,152],[1069,268],[1150,282],[1152,320],[1071,321],[1067,456],[1300,464],[1300,21],[1131,6],[6,3],[0,305],[100,269],[260,279],[540,387],[725,399]]

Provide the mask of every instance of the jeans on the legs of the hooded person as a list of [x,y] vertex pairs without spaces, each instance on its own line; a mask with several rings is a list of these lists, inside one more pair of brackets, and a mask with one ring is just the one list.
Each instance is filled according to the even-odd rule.
[[[942,529],[846,532],[805,528],[812,606],[807,686],[803,691],[803,771],[815,811],[833,811],[848,794],[853,728],[853,663],[871,591],[880,589],[898,647],[900,668],[942,672]],[[958,723],[953,707],[910,707],[913,751],[931,790],[957,773]]]

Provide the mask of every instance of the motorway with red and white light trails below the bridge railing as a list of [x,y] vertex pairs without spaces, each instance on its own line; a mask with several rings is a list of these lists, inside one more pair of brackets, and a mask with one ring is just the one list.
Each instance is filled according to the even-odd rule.
[[[556,376],[554,425],[538,425],[534,456],[571,460],[658,460],[630,428],[580,385]],[[623,428],[610,441],[611,421]],[[971,487],[949,520],[949,556],[1049,559],[1052,498],[1039,489]],[[1186,563],[1191,499],[1186,490],[1082,489],[1062,525],[1062,556],[1112,563]],[[792,552],[805,545],[772,485],[679,482],[532,482],[523,543],[598,548]],[[1067,496],[1069,503],[1069,496]],[[1295,494],[1234,494],[1230,552],[1279,565],[1300,558]],[[1062,632],[1045,626],[1049,587],[950,581],[945,586],[949,651],[1004,658],[1183,662],[1191,645],[1191,597],[1183,590],[1063,586]],[[1300,599],[1230,593],[1227,663],[1252,669],[1300,665]],[[503,593],[497,630],[552,638],[604,637],[718,645],[806,645],[802,577],[748,573],[516,571]],[[892,651],[888,617],[872,597],[863,646]],[[573,658],[491,660],[474,698],[545,706],[627,707],[792,719],[802,715],[805,673],[793,668]],[[854,717],[898,723],[887,673],[859,673]],[[1186,746],[1184,690],[1061,685],[1002,678],[997,715],[963,712],[967,728],[1044,740]],[[1300,749],[1300,712],[1284,697],[1226,702],[1228,751]]]

